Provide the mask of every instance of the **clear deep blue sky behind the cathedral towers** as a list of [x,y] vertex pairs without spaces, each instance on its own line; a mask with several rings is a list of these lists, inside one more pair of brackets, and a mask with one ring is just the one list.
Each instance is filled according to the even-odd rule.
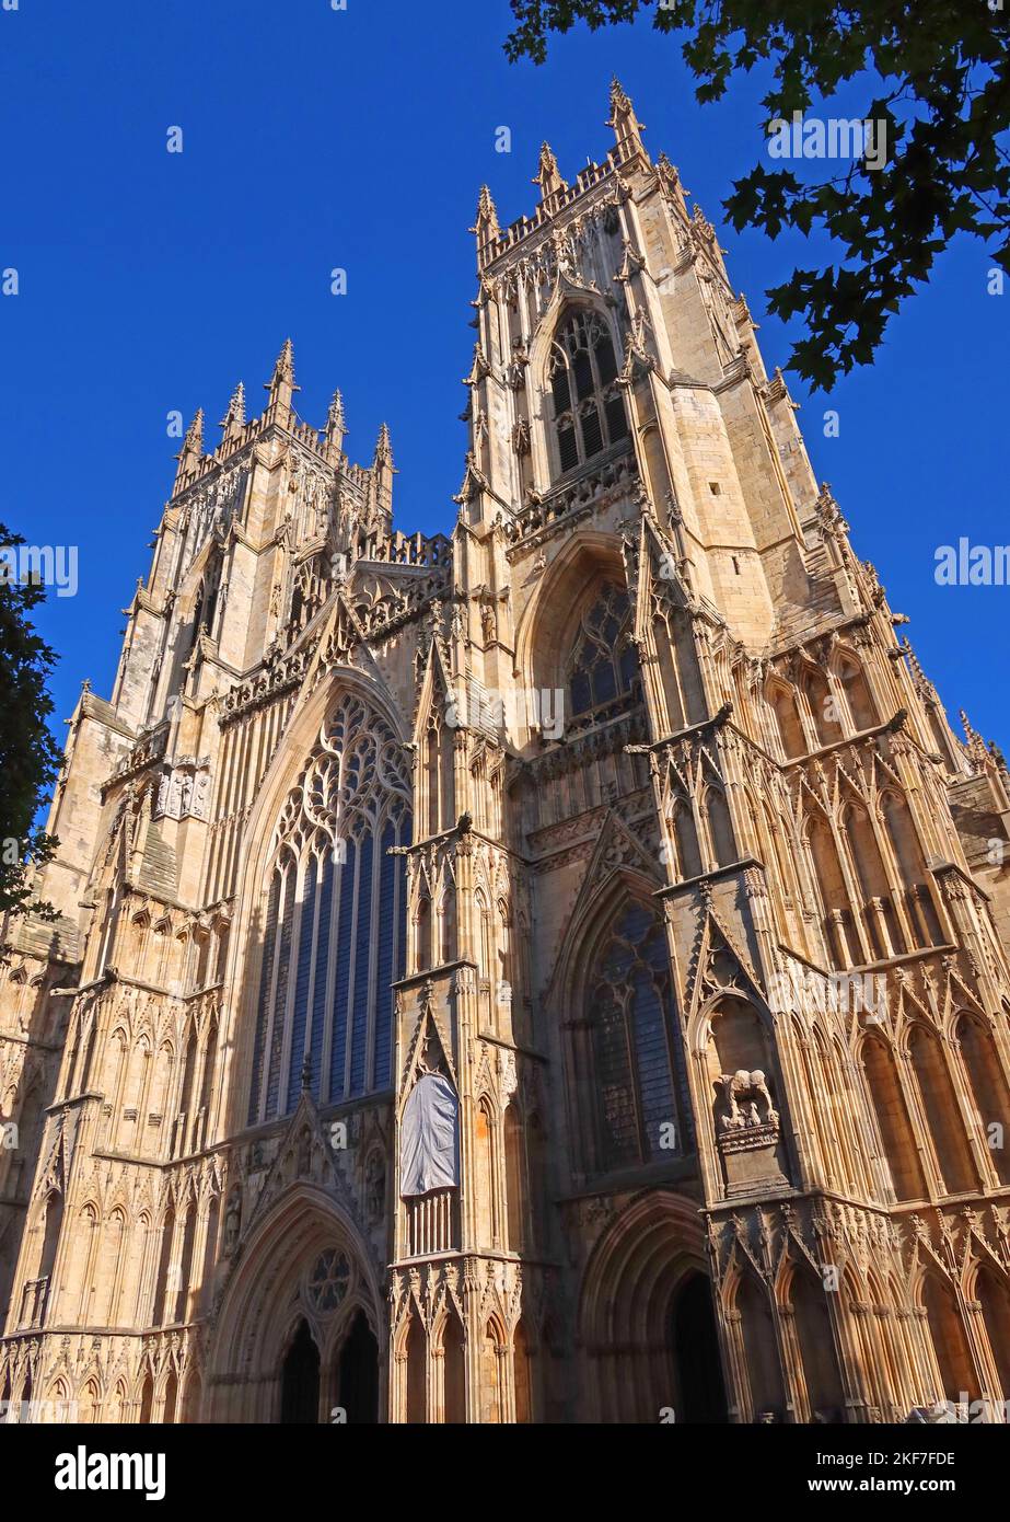
[[[344,391],[347,449],[371,460],[386,419],[397,525],[447,530],[462,476],[473,332],[473,222],[534,205],[542,139],[569,178],[611,143],[618,73],[684,184],[721,227],[730,277],[761,323],[768,368],[788,338],[764,288],[800,259],[723,225],[730,181],[762,154],[758,81],[701,108],[669,40],[584,29],[551,61],[511,65],[505,0],[21,0],[0,11],[5,195],[0,268],[0,519],[32,543],[79,546],[79,591],[38,624],[61,662],[56,729],[81,679],[108,694],[119,633],[178,441],[166,414],[216,425],[239,379],[251,408],[291,333],[303,417]],[[181,126],[184,151],[166,152]],[[511,154],[496,152],[510,126]],[[330,294],[330,269],[348,292]],[[814,467],[955,715],[1007,746],[1010,587],[939,587],[937,545],[1010,540],[1007,310],[964,242],[893,326],[873,368],[803,403]],[[837,408],[840,438],[823,437]],[[216,428],[207,437],[218,438]]]

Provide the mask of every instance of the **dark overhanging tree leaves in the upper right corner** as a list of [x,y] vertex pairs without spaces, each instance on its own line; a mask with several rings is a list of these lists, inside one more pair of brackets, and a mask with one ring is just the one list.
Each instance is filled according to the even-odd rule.
[[[989,3],[995,9],[989,9]],[[1010,272],[1010,67],[1004,0],[511,0],[510,59],[543,62],[551,32],[592,30],[653,14],[683,38],[700,102],[726,94],[733,75],[768,64],[762,105],[773,120],[809,111],[850,81],[881,93],[861,111],[885,123],[887,163],[856,158],[846,172],[802,184],[759,164],[724,202],[733,225],[773,239],[783,228],[826,231],[837,265],[796,269],[768,291],[771,310],[802,317],[791,367],[829,390],[869,364],[900,303],[928,280],[958,233],[984,239]],[[876,76],[876,82],[873,79]]]

